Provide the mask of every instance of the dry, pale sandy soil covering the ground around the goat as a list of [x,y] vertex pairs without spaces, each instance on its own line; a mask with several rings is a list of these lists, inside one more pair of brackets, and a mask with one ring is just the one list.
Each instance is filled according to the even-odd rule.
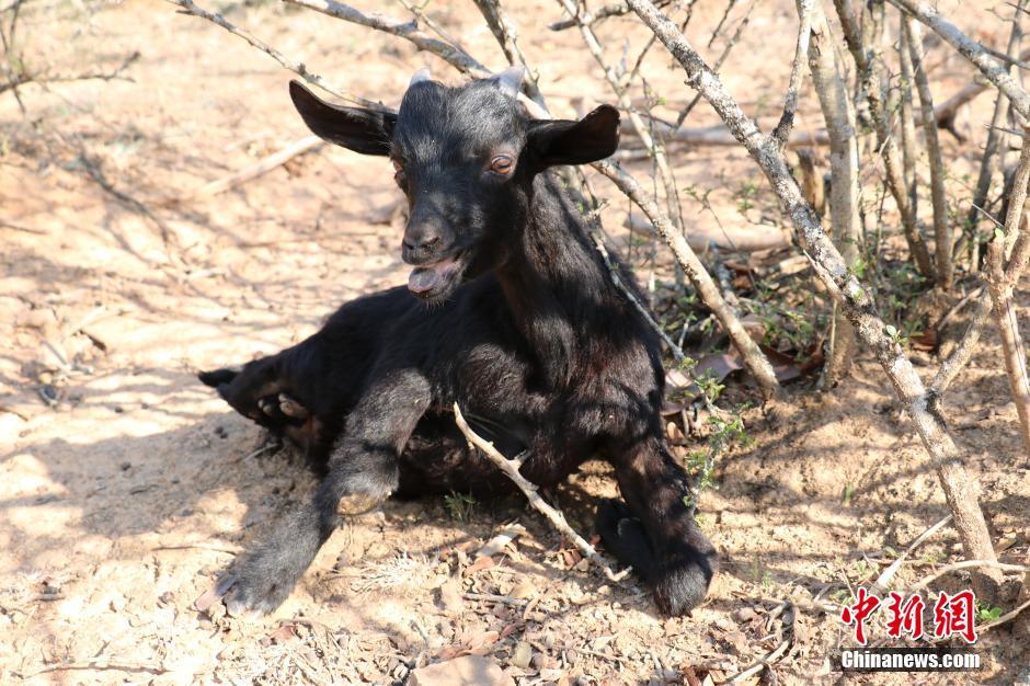
[[[510,4],[553,108],[569,115],[577,98],[606,100],[577,35],[526,28],[560,19],[557,4]],[[965,4],[961,23],[997,45],[995,5]],[[702,48],[721,5],[700,3],[689,35]],[[432,7],[466,47],[502,66],[470,2]],[[263,3],[226,11],[388,104],[417,67],[449,73],[408,44],[311,12]],[[726,62],[729,87],[752,114],[779,106],[796,22],[792,4],[763,2]],[[664,619],[632,578],[615,584],[579,564],[518,499],[465,511],[443,500],[388,503],[333,536],[274,617],[198,611],[195,599],[219,571],[305,499],[313,478],[288,450],[259,451],[260,431],[194,374],[275,352],[343,300],[403,282],[389,163],[321,148],[196,197],[204,183],[306,135],[286,95],[288,73],[161,2],[32,3],[20,32],[26,56],[60,73],[111,67],[136,50],[140,58],[126,72],[131,81],[23,87],[24,113],[0,94],[0,682],[389,684],[466,653],[488,655],[525,684],[679,683],[684,667],[724,678],[778,644],[785,618],[772,610],[788,598],[798,609],[779,679],[892,681],[835,672],[831,651],[847,631],[834,613],[812,608],[815,596],[847,597],[843,588],[873,579],[947,514],[912,423],[866,358],[833,392],[801,381],[787,402],[746,414],[754,442],[720,460],[719,488],[701,499],[722,573],[690,617]],[[602,36],[615,58],[623,39],[632,56],[643,38],[627,21]],[[945,50],[931,57],[941,95],[970,78]],[[693,96],[659,50],[645,68],[671,108]],[[963,115],[972,142],[946,140],[959,170],[953,187],[976,155],[988,100]],[[812,103],[800,127],[821,125]],[[705,106],[691,118],[714,122]],[[726,226],[779,221],[740,152],[680,150],[674,159],[680,183],[710,190]],[[760,202],[741,211],[734,194],[748,183]],[[622,236],[625,201],[598,188],[613,202],[606,225]],[[684,211],[691,227],[712,221],[693,201]],[[1022,316],[1030,299],[1018,297]],[[1002,558],[1020,562],[1030,461],[998,346],[988,332],[946,410]],[[934,357],[915,356],[930,374]],[[615,492],[596,465],[551,496],[587,531],[593,503]],[[474,564],[483,541],[513,521],[526,534],[493,567]],[[895,587],[961,559],[957,540],[942,529]],[[935,587],[968,583],[951,574]],[[1008,591],[1005,609],[1015,604]],[[1027,637],[1011,626],[982,638],[981,673],[950,681],[1011,683],[1030,661]]]

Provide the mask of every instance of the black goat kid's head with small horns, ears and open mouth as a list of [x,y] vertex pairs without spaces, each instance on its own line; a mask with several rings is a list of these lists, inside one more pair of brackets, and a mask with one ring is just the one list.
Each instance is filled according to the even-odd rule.
[[448,88],[423,70],[396,114],[332,105],[290,83],[314,134],[392,160],[410,205],[402,256],[415,268],[408,288],[420,298],[442,301],[464,279],[507,260],[536,174],[606,158],[618,146],[619,114],[607,105],[579,122],[531,119],[516,100],[522,76],[510,69]]

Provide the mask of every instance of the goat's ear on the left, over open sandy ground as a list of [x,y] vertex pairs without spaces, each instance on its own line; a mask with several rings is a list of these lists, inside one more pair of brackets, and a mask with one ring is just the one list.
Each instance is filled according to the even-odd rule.
[[298,81],[289,82],[289,96],[311,133],[364,155],[389,155],[397,115],[392,112],[342,107],[317,96]]

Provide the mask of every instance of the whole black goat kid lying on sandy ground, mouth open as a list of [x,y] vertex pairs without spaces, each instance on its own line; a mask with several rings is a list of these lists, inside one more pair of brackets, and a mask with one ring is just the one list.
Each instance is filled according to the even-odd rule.
[[[471,450],[473,426],[540,485],[591,458],[615,468],[625,503],[598,511],[605,547],[644,578],[663,613],[701,602],[714,551],[687,476],[666,449],[654,332],[615,286],[573,199],[548,172],[611,155],[619,115],[533,121],[520,71],[447,88],[420,73],[397,114],[322,102],[297,82],[312,132],[389,156],[408,196],[408,288],[344,305],[302,343],[201,375],[239,412],[325,462],[311,502],[220,584],[230,611],[270,611],[341,517],[391,493],[500,491]],[[619,268],[622,268],[621,266]],[[623,270],[622,281],[632,283]]]

